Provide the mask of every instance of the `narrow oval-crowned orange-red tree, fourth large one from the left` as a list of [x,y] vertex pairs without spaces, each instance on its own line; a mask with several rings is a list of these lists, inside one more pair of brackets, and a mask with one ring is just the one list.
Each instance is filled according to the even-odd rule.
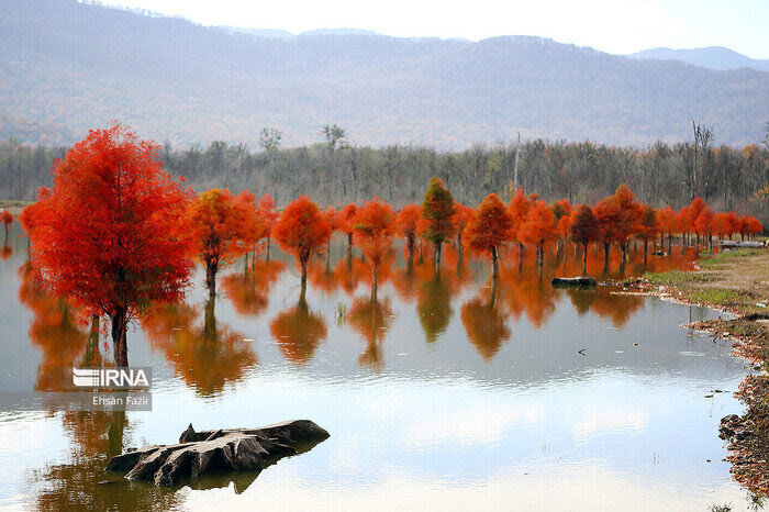
[[355,240],[371,261],[371,297],[377,297],[377,270],[392,247],[395,211],[379,198],[364,203],[355,215]]

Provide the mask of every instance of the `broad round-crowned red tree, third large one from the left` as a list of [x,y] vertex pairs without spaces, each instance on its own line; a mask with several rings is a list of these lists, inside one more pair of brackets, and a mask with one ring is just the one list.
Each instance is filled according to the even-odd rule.
[[308,282],[310,256],[323,247],[331,236],[331,226],[317,204],[307,196],[291,201],[272,229],[275,238],[283,251],[291,252],[302,269],[302,288]]

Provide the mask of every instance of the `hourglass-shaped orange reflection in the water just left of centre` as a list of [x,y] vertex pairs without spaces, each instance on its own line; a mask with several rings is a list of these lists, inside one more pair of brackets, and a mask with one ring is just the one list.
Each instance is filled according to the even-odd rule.
[[390,327],[391,318],[392,308],[388,299],[375,301],[371,298],[358,298],[353,301],[347,312],[347,323],[360,333],[367,344],[366,352],[360,355],[358,361],[375,371],[384,366],[380,343]]

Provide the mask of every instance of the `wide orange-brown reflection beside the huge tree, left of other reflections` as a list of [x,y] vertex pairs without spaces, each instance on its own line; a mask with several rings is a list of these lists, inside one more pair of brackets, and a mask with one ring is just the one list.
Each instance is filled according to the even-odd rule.
[[153,350],[161,350],[176,374],[204,397],[221,393],[257,364],[243,335],[216,322],[214,301],[207,302],[202,325],[192,325],[199,313],[186,303],[160,307],[142,320]]

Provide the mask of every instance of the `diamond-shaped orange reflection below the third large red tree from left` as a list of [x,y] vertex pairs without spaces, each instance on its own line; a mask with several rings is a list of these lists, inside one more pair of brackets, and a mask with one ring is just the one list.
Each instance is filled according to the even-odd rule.
[[296,305],[278,313],[270,322],[269,331],[286,359],[298,366],[312,359],[327,334],[323,318],[310,311],[303,291]]

